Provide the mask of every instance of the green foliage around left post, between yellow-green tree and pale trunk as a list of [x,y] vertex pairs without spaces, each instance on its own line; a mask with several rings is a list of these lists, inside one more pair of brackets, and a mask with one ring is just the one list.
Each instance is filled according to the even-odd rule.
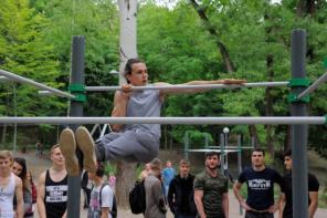
[[[51,20],[45,40],[55,44],[54,53],[60,60],[61,79],[68,84],[71,69],[71,41],[73,35],[84,35],[86,41],[85,84],[117,85],[110,70],[118,69],[118,15],[117,7],[104,0],[53,0],[42,6],[45,17]],[[85,114],[108,115],[113,93],[89,94]]]

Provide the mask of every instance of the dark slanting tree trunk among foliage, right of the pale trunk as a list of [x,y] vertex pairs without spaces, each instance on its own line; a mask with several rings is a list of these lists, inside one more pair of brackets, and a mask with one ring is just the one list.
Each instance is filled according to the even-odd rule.
[[190,0],[192,7],[196,9],[197,13],[199,14],[200,19],[202,20],[202,22],[204,23],[204,27],[207,28],[207,30],[209,31],[209,33],[214,38],[215,40],[215,44],[220,51],[220,54],[222,56],[222,60],[224,62],[225,69],[228,72],[234,72],[235,68],[234,64],[230,58],[230,54],[228,52],[226,46],[220,41],[219,35],[215,31],[215,29],[213,28],[213,25],[210,23],[207,14],[205,14],[205,10],[203,8],[201,8],[196,0]]

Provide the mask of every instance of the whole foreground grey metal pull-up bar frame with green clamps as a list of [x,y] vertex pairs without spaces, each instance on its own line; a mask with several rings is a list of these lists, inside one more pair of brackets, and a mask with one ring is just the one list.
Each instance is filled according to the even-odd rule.
[[[306,32],[304,30],[294,30],[292,33],[291,49],[292,49],[292,80],[289,82],[263,82],[263,83],[245,83],[244,85],[194,85],[194,86],[155,86],[154,89],[234,89],[234,87],[254,87],[254,86],[289,86],[291,94],[288,95],[288,103],[291,104],[289,116],[271,116],[271,117],[83,117],[83,102],[86,101],[86,91],[108,91],[119,90],[120,87],[92,87],[85,86],[84,81],[84,37],[74,37],[72,45],[72,75],[71,85],[67,92],[62,92],[53,87],[36,83],[30,79],[25,79],[4,70],[0,70],[0,75],[6,80],[31,84],[43,91],[50,91],[59,96],[67,97],[70,100],[70,117],[0,117],[0,123],[33,123],[33,124],[70,124],[74,131],[77,124],[271,124],[282,125],[292,124],[292,147],[293,147],[293,211],[294,217],[307,218],[307,124],[323,125],[327,124],[327,116],[306,116],[306,104],[309,102],[308,94],[314,92],[320,84],[326,82],[327,73],[320,76],[315,83],[309,84],[305,79],[305,54],[306,54]],[[2,80],[0,77],[0,80]],[[102,90],[103,89],[103,90]],[[145,90],[147,86],[134,87],[134,90]],[[226,152],[229,148],[224,147]],[[221,149],[221,148],[217,148]],[[80,177],[68,177],[68,203],[67,217],[80,217],[81,187]]]

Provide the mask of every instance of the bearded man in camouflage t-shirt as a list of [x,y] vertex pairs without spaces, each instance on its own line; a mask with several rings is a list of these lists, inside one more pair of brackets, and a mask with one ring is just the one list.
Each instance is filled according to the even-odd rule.
[[219,154],[207,153],[205,170],[194,179],[194,201],[200,218],[229,218],[229,179],[219,173]]

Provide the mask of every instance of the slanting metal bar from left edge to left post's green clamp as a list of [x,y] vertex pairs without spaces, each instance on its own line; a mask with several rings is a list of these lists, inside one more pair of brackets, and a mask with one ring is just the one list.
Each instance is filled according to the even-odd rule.
[[74,95],[72,95],[70,93],[56,90],[54,87],[50,87],[50,86],[44,85],[42,83],[38,83],[38,82],[33,81],[33,80],[17,75],[14,73],[11,73],[11,72],[8,72],[8,71],[1,70],[1,69],[0,69],[0,75],[3,75],[3,76],[6,76],[6,77],[8,77],[8,79],[10,79],[10,80],[12,80],[14,82],[30,84],[30,85],[33,85],[33,86],[40,89],[40,90],[45,90],[45,91],[52,92],[52,93],[54,93],[54,94],[56,94],[59,96],[62,96],[62,97],[70,97],[70,98],[75,97]]

